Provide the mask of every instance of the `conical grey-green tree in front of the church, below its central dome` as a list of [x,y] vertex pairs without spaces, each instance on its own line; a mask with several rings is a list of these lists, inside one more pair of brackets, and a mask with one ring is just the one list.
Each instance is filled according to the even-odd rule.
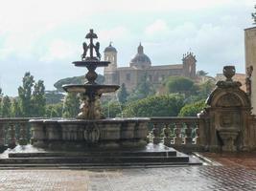
[[128,96],[128,101],[139,100],[147,96],[152,96],[155,94],[155,91],[152,87],[151,82],[148,80],[148,74],[143,74],[140,78],[135,90]]

